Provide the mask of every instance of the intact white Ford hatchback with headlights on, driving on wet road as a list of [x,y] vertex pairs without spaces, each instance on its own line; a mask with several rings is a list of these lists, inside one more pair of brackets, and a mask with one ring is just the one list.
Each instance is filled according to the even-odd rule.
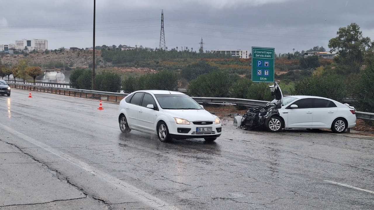
[[156,134],[161,142],[204,138],[214,141],[221,135],[220,118],[206,111],[184,93],[168,90],[139,90],[121,100],[119,127]]

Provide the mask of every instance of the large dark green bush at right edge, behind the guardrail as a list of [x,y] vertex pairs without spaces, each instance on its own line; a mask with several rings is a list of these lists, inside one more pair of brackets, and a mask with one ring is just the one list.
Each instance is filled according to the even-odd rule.
[[365,68],[354,82],[352,98],[357,99],[355,104],[359,111],[374,112],[374,65]]

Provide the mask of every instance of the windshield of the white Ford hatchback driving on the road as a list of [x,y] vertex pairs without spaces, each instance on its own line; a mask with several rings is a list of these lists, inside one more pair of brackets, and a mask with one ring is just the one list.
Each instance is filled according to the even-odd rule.
[[203,109],[187,95],[155,94],[162,109]]

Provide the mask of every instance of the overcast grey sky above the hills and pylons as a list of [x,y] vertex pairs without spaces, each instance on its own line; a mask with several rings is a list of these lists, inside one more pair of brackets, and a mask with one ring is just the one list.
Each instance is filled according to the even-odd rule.
[[[0,44],[46,39],[48,49],[91,47],[93,0],[0,0]],[[352,22],[374,40],[373,0],[96,0],[96,46],[168,49],[328,49]]]

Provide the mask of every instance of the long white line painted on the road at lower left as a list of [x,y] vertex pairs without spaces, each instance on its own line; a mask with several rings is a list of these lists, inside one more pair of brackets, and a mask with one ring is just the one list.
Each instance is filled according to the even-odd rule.
[[140,201],[147,203],[150,207],[157,209],[157,210],[178,210],[177,207],[174,207],[171,204],[166,203],[163,200],[160,200],[159,198],[154,197],[151,194],[148,194],[147,192],[142,191],[141,189],[136,188],[135,186],[130,185],[129,183],[117,179],[114,176],[111,176],[107,173],[104,173],[100,170],[95,169],[92,166],[89,166],[87,163],[82,162],[76,158],[71,157],[70,155],[67,155],[61,151],[58,151],[55,148],[52,148],[45,143],[39,142],[36,139],[33,139],[29,136],[24,135],[23,133],[20,133],[14,129],[11,129],[10,127],[7,127],[0,123],[0,128],[6,130],[9,133],[12,133],[13,135],[18,136],[21,139],[26,140],[27,142],[30,142],[36,146],[39,146],[42,149],[45,149],[47,152],[50,152],[53,155],[56,155],[72,164],[74,164],[77,167],[80,167],[81,169],[86,170],[89,173],[92,173],[93,175],[111,183],[116,188],[122,189],[127,194],[133,195],[135,198],[138,198]]

